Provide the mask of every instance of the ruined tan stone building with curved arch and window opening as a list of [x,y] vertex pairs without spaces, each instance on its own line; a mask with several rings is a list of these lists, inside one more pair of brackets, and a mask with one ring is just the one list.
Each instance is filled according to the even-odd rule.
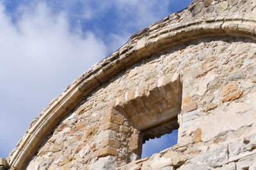
[[[256,169],[255,40],[255,0],[195,0],[77,78],[0,165]],[[174,129],[177,145],[140,159]]]

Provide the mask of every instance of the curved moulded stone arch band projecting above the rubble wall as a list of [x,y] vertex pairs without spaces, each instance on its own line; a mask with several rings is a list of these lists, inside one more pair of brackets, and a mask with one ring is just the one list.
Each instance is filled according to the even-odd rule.
[[[166,18],[162,22],[164,21]],[[56,97],[49,107],[42,111],[40,117],[31,123],[31,127],[17,144],[17,148],[10,153],[8,157],[10,167],[22,169],[44,141],[45,136],[81,99],[132,64],[162,50],[200,38],[233,36],[256,40],[256,21],[243,17],[196,19],[179,25],[166,25],[152,34],[148,34],[149,29],[133,35],[130,43],[122,46],[107,59],[101,60],[88,73],[82,74],[75,80],[63,94]]]

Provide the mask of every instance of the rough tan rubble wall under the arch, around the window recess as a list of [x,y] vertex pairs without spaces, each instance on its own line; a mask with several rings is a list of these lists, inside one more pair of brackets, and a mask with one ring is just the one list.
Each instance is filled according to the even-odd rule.
[[[146,88],[145,84],[154,86],[150,82],[159,82],[162,76],[172,80],[168,75],[177,71],[182,77],[182,113],[175,152],[178,150],[184,160],[177,160],[174,167],[189,157],[214,150],[220,143],[232,145],[232,141],[255,133],[255,43],[248,39],[216,38],[192,44],[143,60],[95,90],[56,127],[27,169],[110,169],[140,158],[140,131],[132,128],[113,106],[132,89]],[[128,103],[129,98],[123,101]],[[145,120],[143,117],[146,115],[138,120]],[[237,132],[241,131],[239,128],[246,134]],[[177,155],[166,154],[171,158]]]

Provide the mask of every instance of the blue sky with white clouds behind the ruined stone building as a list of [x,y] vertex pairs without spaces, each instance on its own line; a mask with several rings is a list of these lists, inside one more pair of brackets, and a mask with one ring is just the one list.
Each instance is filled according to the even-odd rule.
[[[0,0],[0,157],[72,81],[191,1]],[[158,143],[168,148],[172,140]]]

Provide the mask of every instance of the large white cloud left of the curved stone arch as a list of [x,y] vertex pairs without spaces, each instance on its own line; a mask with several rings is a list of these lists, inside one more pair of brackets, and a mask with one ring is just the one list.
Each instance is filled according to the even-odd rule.
[[[106,56],[102,40],[71,29],[65,13],[45,3],[28,9],[12,22],[0,4],[1,147],[15,148],[42,108]],[[7,155],[1,151],[0,157]]]

